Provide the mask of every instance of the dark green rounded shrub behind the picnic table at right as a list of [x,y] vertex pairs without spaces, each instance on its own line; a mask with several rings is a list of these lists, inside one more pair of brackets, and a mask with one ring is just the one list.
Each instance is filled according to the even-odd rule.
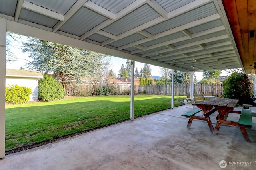
[[223,81],[225,98],[239,99],[239,104],[252,104],[251,84],[248,76],[244,73],[235,72]]

